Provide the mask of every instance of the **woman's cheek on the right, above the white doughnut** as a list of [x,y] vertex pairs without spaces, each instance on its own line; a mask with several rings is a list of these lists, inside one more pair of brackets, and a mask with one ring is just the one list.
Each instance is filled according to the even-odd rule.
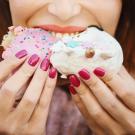
[[108,3],[102,4],[100,9],[96,12],[97,20],[99,20],[104,30],[111,35],[115,34],[120,18],[121,7],[121,0],[108,0]]

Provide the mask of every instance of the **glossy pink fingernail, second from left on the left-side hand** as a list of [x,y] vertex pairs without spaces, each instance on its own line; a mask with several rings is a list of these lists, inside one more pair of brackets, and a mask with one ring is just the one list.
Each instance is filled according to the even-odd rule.
[[30,66],[34,67],[38,63],[39,59],[40,58],[37,54],[33,54],[28,60],[28,63]]

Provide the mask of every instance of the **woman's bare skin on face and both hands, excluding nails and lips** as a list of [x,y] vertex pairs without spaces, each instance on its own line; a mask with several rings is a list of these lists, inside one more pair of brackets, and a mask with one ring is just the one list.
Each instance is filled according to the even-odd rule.
[[[122,7],[121,0],[9,0],[9,3],[14,25],[33,27],[56,24],[87,27],[94,24],[112,36],[115,34]],[[51,79],[48,76],[50,69],[42,71],[38,64],[31,68],[27,61],[27,57],[17,59],[13,56],[12,59],[0,63],[2,135],[43,135],[46,131],[45,125],[57,76]],[[23,66],[13,76],[5,79],[21,64]],[[91,77],[87,81],[79,76],[80,85],[75,87],[72,84],[77,92],[72,94],[73,100],[97,135],[134,134],[135,81],[124,67],[118,74],[103,70],[103,77],[97,77],[91,71]],[[32,75],[37,83],[34,79],[31,80],[24,98],[13,109],[19,88]],[[42,80],[40,86],[39,80]],[[33,88],[38,90],[37,94]]]

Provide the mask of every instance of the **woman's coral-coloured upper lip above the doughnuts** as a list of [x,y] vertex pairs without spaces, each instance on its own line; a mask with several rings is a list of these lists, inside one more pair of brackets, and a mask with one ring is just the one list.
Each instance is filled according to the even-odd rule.
[[47,31],[56,32],[56,33],[76,33],[86,30],[87,27],[81,26],[58,26],[58,25],[40,25],[35,26],[36,28],[41,28]]

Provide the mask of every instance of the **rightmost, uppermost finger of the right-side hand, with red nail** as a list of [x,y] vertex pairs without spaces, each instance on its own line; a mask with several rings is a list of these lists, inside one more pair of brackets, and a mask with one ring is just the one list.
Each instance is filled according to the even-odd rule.
[[[100,72],[104,73],[103,76],[99,76],[98,73]],[[135,81],[129,76],[124,67],[121,68],[120,75],[107,72],[102,68],[96,68],[95,74],[115,91],[132,111],[135,111]]]

